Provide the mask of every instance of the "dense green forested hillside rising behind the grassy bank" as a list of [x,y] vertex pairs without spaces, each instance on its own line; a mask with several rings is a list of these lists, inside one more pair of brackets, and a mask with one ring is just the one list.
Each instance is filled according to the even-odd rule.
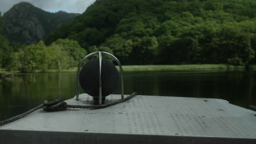
[[254,0],[101,0],[45,39],[77,40],[123,64],[255,63]]

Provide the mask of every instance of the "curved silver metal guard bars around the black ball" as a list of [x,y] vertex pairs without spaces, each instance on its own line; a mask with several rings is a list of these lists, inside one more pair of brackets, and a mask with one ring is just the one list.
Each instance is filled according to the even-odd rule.
[[83,60],[79,63],[78,65],[78,70],[77,70],[77,97],[75,98],[75,100],[79,100],[79,74],[80,74],[80,70],[81,70],[81,67],[82,67],[82,64],[84,63],[84,61],[91,57],[92,55],[96,55],[98,53],[99,55],[99,59],[100,59],[100,77],[99,77],[99,104],[102,104],[102,83],[101,83],[101,62],[102,62],[102,53],[103,54],[106,54],[106,55],[109,55],[111,56],[115,62],[118,63],[119,65],[119,68],[120,68],[120,75],[121,75],[121,99],[124,99],[124,73],[123,73],[123,68],[122,68],[122,65],[121,63],[119,62],[119,60],[114,56],[112,55],[111,53],[108,53],[108,52],[104,52],[104,51],[97,51],[97,52],[92,52],[90,53],[89,55],[85,56],[83,58]]

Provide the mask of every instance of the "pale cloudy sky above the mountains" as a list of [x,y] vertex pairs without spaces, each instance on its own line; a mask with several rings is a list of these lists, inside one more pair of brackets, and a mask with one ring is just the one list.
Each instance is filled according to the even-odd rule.
[[83,13],[96,0],[0,0],[0,11],[2,15],[14,4],[29,2],[45,11],[57,12],[59,10],[68,13]]

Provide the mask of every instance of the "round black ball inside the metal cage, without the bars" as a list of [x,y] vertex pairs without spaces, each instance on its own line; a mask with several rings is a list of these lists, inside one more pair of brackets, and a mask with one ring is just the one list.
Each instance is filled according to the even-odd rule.
[[[100,59],[92,59],[87,62],[79,74],[80,86],[86,93],[94,97],[98,101],[99,95],[99,78],[100,78]],[[101,64],[101,86],[102,86],[102,101],[105,97],[111,94],[118,85],[118,70],[112,62],[107,59],[102,59]]]

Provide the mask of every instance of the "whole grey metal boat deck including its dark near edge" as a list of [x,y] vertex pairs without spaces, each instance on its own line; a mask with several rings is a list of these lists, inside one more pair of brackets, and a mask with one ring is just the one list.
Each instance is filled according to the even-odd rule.
[[[106,103],[120,99],[109,95]],[[80,94],[88,105],[92,97]],[[222,99],[137,95],[99,110],[38,110],[0,127],[0,143],[256,143],[256,112]]]

